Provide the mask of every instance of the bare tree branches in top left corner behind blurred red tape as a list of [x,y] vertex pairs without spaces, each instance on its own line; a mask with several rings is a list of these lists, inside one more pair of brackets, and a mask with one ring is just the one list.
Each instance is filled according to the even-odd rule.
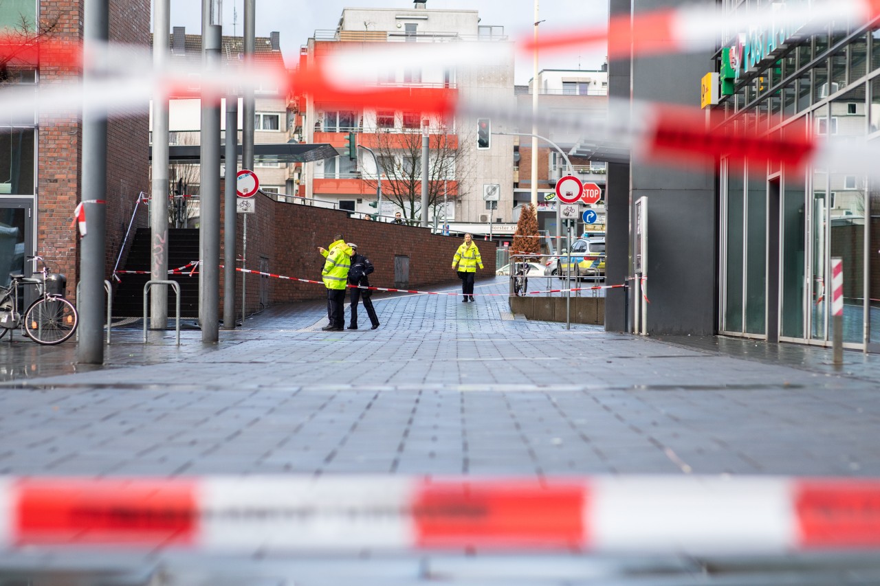
[[[4,14],[3,0],[0,0],[0,14]],[[26,14],[18,13],[11,19],[11,24],[4,26],[0,22],[0,84],[17,84],[32,81],[40,67],[38,55],[46,54],[51,59],[51,52],[44,51],[41,45],[52,38],[58,26],[58,17],[40,19],[40,26]]]

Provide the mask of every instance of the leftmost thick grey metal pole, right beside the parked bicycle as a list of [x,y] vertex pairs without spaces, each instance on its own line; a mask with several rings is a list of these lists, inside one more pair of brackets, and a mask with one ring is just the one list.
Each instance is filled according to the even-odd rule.
[[[109,31],[109,0],[85,0],[84,44],[106,43]],[[85,67],[86,88],[96,77]],[[86,233],[80,241],[79,341],[77,362],[104,363],[104,254],[106,250],[106,170],[107,121],[104,113],[83,104],[83,184],[80,201],[84,206]],[[88,201],[88,203],[86,203]]]

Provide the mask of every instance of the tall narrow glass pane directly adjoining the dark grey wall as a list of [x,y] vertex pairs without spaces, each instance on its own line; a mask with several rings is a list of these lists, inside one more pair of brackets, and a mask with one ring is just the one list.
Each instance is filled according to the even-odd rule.
[[728,163],[727,169],[727,284],[724,329],[743,331],[743,165]]

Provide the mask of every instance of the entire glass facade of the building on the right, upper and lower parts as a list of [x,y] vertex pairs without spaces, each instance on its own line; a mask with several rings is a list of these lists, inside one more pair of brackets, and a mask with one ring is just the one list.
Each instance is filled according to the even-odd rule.
[[[723,3],[729,13],[757,0]],[[730,31],[722,47],[733,47]],[[742,72],[719,106],[758,135],[803,125],[817,141],[880,140],[880,24],[828,23]],[[833,168],[722,157],[719,329],[831,344],[831,261],[844,270],[844,342],[880,351],[880,184]]]

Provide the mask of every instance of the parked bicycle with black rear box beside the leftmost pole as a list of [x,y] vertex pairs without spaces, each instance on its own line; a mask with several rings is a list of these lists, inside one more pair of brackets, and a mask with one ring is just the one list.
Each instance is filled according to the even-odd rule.
[[[13,273],[10,274],[9,287],[0,286],[0,338],[20,325],[26,335],[38,344],[60,344],[77,331],[77,308],[62,294],[48,292],[46,283],[60,275],[49,273],[47,261],[41,256],[27,258],[42,263],[41,275],[39,278],[29,278],[21,273]],[[18,288],[21,285],[34,285],[39,293],[39,297],[27,307],[24,320],[18,313]],[[11,336],[10,333],[10,339]]]

